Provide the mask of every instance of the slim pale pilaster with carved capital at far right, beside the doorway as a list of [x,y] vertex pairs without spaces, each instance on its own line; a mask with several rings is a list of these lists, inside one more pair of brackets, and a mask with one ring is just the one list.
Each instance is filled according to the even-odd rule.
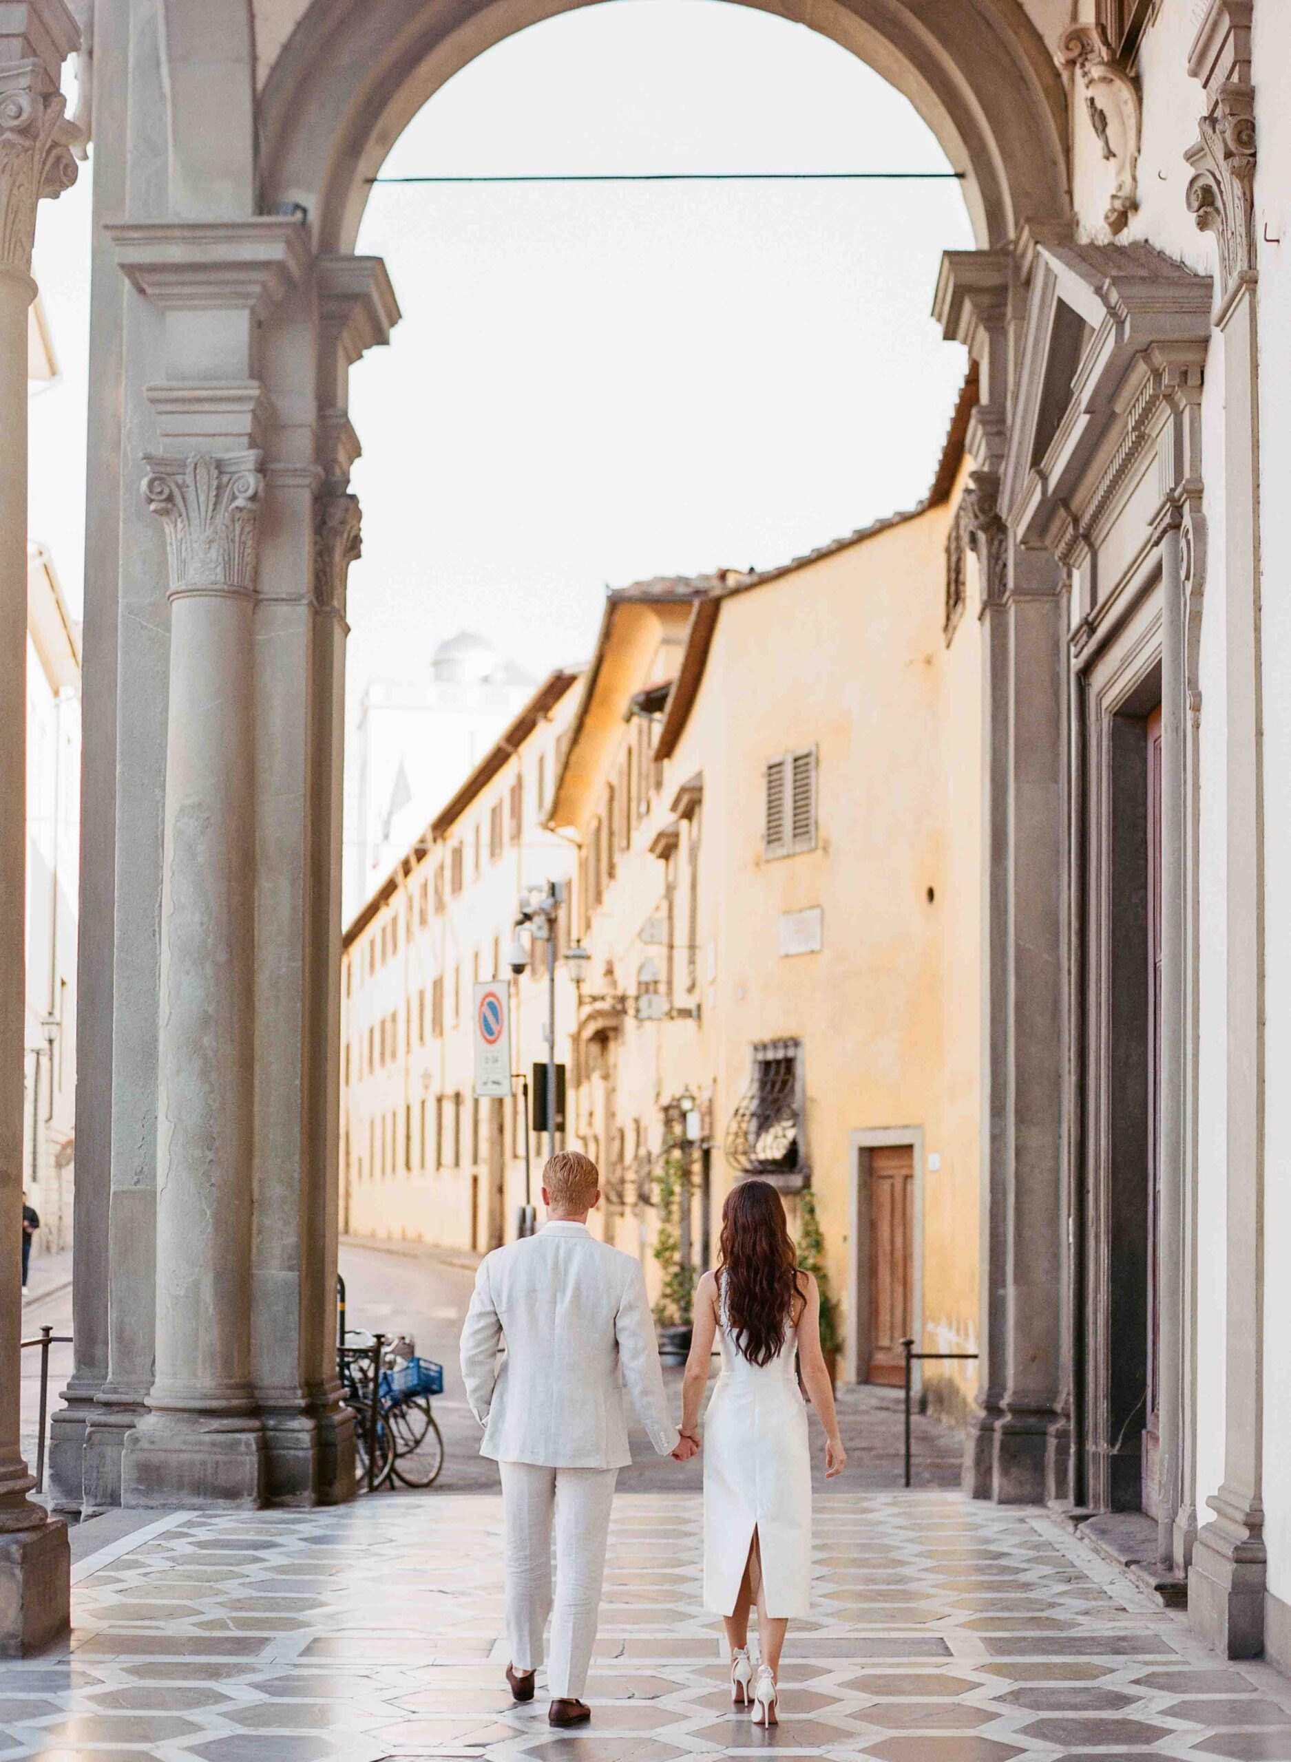
[[1189,55],[1206,88],[1187,203],[1219,245],[1224,337],[1226,675],[1226,1329],[1224,1480],[1189,1572],[1192,1623],[1229,1658],[1265,1644],[1263,1210],[1265,855],[1259,657],[1259,409],[1256,398],[1256,120],[1252,0],[1212,0]]

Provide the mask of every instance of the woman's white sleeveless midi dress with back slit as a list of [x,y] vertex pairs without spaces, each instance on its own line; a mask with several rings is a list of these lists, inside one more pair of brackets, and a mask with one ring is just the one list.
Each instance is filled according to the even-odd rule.
[[767,1616],[795,1619],[811,1600],[811,1452],[794,1367],[797,1329],[771,1364],[750,1364],[718,1302],[721,1376],[704,1424],[704,1607],[735,1609],[753,1531]]

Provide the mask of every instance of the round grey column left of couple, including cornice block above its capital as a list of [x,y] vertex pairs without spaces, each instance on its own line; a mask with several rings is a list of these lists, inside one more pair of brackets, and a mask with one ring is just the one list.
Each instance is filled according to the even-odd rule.
[[[125,1436],[123,1505],[257,1505],[252,1396],[254,594],[265,315],[307,263],[287,218],[127,222],[118,263],[160,314],[134,465],[168,573],[157,980],[155,1378]],[[136,483],[139,479],[136,478]],[[138,566],[152,569],[146,539]],[[116,1276],[116,1265],[113,1265]],[[129,1293],[120,1293],[123,1299]],[[113,1290],[113,1302],[118,1300]]]

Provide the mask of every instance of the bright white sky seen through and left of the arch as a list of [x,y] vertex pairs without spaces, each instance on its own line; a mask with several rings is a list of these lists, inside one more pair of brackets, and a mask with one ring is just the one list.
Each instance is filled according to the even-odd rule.
[[[947,169],[845,49],[720,0],[614,0],[497,44],[384,171]],[[32,536],[79,611],[88,194],[41,204],[63,381],[32,403]],[[965,356],[928,315],[956,183],[377,187],[404,319],[351,374],[363,559],[349,696],[460,626],[534,673],[607,583],[769,566],[926,492]]]

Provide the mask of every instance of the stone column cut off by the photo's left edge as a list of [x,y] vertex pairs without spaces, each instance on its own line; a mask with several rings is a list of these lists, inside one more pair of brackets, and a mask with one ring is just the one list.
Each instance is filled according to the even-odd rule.
[[23,1209],[23,1025],[26,997],[26,308],[42,196],[76,178],[58,69],[76,48],[62,0],[0,7],[0,1653],[67,1632],[67,1528],[28,1499],[19,1447],[23,1337],[18,1246]]

